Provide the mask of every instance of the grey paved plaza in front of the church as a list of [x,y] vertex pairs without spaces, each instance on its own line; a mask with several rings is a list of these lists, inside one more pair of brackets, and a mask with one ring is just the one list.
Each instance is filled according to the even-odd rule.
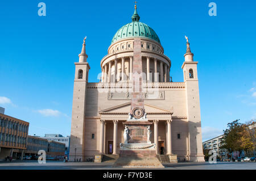
[[[93,162],[60,162],[47,161],[39,164],[37,161],[0,162],[0,170],[84,170],[84,169],[120,169],[113,168],[113,163]],[[171,163],[163,164],[166,170],[256,170],[256,162],[208,162],[197,163]]]

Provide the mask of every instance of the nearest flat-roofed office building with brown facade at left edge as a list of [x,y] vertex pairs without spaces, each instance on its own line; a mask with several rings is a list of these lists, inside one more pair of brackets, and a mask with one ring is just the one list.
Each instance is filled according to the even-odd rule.
[[28,122],[0,113],[0,160],[23,155],[28,127]]

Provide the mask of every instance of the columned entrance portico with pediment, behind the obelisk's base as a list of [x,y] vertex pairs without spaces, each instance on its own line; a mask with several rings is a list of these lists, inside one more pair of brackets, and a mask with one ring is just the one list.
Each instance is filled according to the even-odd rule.
[[[106,110],[100,111],[100,153],[101,154],[119,154],[119,144],[123,142],[123,124],[127,120],[127,113],[120,112],[120,109],[130,108],[130,103],[125,105],[120,105],[118,107],[112,107]],[[151,142],[155,143],[156,154],[159,154],[158,142],[164,142],[164,154],[172,154],[171,145],[171,115],[170,110],[163,110],[162,108],[152,107],[148,104],[145,104],[145,110],[148,111],[148,121],[153,123],[154,126],[151,127],[152,134],[154,137],[151,137]],[[155,112],[153,112],[155,111]],[[160,119],[154,119],[159,113],[165,113],[164,117]],[[114,117],[114,118],[113,118]],[[161,127],[161,136],[159,137],[159,127],[158,125],[164,125],[164,133]],[[166,131],[165,131],[166,130]],[[113,145],[110,144],[112,143]],[[105,148],[104,148],[105,145]],[[110,146],[110,148],[109,148]],[[104,151],[105,150],[105,151]]]

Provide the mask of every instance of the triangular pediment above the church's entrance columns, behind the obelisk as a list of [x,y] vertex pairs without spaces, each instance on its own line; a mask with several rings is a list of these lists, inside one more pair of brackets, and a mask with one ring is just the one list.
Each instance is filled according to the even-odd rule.
[[[166,110],[160,107],[152,106],[150,104],[144,104],[144,108],[146,113],[167,113],[167,114],[172,114],[172,108],[170,110]],[[118,106],[113,106],[110,108],[107,108],[105,110],[99,111],[100,114],[127,114],[131,110],[131,102],[121,104]]]

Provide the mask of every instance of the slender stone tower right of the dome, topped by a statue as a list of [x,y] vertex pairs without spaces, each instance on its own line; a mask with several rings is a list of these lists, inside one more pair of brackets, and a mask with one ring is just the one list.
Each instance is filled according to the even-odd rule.
[[[185,36],[186,37],[186,36]],[[185,61],[181,68],[184,73],[185,96],[188,119],[188,139],[189,139],[189,161],[204,162],[202,135],[201,135],[201,115],[199,100],[199,82],[197,78],[197,63],[193,61],[193,53],[189,47],[187,39],[187,52],[184,54]]]

